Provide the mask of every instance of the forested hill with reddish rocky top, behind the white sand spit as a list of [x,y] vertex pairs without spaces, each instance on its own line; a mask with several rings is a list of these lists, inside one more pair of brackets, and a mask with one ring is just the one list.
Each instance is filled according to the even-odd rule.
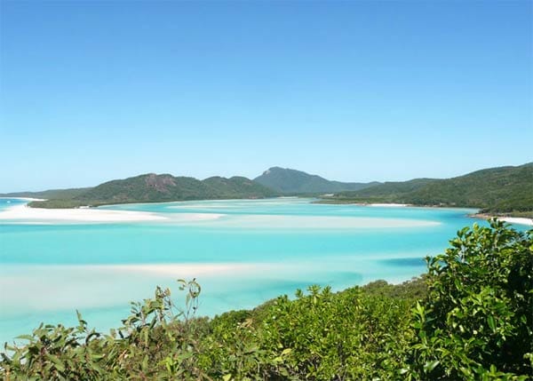
[[264,198],[276,195],[267,187],[243,177],[198,180],[169,174],[148,173],[129,179],[107,181],[70,197],[50,197],[31,202],[36,208],[74,208],[125,202],[171,202],[184,200]]

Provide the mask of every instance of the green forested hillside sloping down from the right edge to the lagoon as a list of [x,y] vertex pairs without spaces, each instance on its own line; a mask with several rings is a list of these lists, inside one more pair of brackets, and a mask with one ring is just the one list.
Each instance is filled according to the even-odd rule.
[[490,168],[452,179],[386,182],[355,192],[340,192],[330,201],[405,202],[480,208],[488,212],[533,211],[533,163]]

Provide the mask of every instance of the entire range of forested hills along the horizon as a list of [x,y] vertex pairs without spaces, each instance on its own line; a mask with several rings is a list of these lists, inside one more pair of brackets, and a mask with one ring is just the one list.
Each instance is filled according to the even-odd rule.
[[489,215],[533,218],[533,163],[490,168],[452,179],[342,183],[306,172],[273,167],[258,178],[198,180],[154,173],[118,179],[97,187],[22,192],[2,196],[46,198],[37,208],[76,208],[126,202],[264,198],[282,194],[320,195],[324,203],[402,202],[414,205],[478,208]]

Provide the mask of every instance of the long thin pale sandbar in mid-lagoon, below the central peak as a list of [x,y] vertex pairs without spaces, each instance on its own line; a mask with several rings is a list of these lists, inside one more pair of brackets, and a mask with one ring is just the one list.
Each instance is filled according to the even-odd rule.
[[213,220],[213,226],[261,229],[377,229],[394,227],[438,226],[440,222],[409,218],[365,218],[294,215],[233,215]]

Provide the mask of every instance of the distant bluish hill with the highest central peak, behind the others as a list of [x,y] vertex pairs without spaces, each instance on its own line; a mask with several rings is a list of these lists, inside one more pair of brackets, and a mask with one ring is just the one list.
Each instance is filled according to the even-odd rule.
[[288,168],[272,167],[254,179],[259,184],[282,194],[320,194],[358,190],[379,183],[343,183]]

